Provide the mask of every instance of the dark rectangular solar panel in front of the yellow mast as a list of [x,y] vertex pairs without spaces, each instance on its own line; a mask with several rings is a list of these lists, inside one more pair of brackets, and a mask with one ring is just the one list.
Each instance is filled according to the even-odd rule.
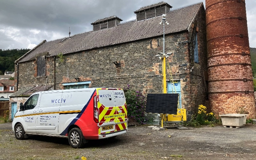
[[148,93],[146,113],[177,114],[178,93]]

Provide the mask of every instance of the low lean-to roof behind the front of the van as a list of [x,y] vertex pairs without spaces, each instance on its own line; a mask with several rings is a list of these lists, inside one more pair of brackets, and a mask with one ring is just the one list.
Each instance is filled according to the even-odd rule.
[[29,97],[35,92],[48,91],[52,85],[38,85],[34,87],[23,87],[9,97]]

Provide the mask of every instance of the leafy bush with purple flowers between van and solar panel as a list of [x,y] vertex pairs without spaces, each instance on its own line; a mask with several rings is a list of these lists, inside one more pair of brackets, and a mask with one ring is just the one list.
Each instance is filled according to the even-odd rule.
[[132,89],[129,84],[124,93],[127,104],[127,116],[134,117],[140,124],[145,124],[146,97],[139,91]]

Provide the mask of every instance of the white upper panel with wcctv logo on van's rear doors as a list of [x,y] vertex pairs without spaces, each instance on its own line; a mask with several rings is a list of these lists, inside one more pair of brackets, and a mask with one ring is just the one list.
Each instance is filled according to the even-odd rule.
[[105,107],[123,106],[125,102],[123,90],[99,90],[99,100]]

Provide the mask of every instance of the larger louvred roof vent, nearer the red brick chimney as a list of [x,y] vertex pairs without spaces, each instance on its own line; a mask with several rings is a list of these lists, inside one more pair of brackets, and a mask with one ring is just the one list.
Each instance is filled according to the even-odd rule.
[[172,6],[170,6],[168,3],[162,1],[156,4],[151,4],[145,7],[141,7],[139,10],[135,11],[136,14],[136,20],[146,20],[148,18],[160,16],[162,14],[166,14],[167,12],[170,12],[170,9]]

